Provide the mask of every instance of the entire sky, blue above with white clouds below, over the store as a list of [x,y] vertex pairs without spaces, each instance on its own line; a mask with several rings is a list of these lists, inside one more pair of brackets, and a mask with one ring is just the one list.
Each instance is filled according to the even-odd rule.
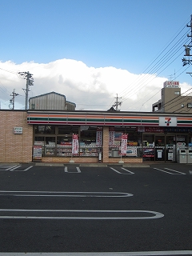
[[166,80],[189,94],[191,0],[0,0],[0,106],[55,91],[76,110],[151,111]]

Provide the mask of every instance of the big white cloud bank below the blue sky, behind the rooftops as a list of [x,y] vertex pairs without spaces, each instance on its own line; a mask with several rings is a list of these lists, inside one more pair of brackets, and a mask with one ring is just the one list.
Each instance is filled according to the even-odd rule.
[[[0,101],[2,108],[8,108],[10,94],[15,89],[15,108],[25,106],[26,80],[18,77],[18,71],[30,71],[34,86],[30,86],[29,97],[55,91],[66,95],[66,100],[76,103],[76,110],[108,110],[118,94],[122,101],[121,110],[151,111],[152,103],[160,98],[160,91],[166,78],[154,74],[131,74],[113,66],[94,68],[85,63],[59,59],[50,63],[0,62]],[[8,72],[10,71],[10,72]],[[183,83],[182,90],[190,89]]]

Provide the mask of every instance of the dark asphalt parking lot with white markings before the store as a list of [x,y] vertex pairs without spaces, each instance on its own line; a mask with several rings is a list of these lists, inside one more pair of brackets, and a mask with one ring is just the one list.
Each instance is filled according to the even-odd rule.
[[1,164],[0,178],[1,253],[192,254],[190,165]]

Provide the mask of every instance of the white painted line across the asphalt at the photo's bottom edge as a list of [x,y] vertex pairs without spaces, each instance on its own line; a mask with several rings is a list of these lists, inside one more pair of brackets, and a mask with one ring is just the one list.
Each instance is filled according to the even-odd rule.
[[192,250],[154,250],[137,252],[100,252],[100,253],[0,253],[0,256],[157,256],[157,255],[192,255]]

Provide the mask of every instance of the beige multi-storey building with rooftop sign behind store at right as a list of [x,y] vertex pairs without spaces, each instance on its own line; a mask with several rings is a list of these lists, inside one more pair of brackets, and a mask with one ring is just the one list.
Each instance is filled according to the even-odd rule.
[[192,96],[181,94],[178,81],[166,81],[161,90],[161,99],[152,105],[153,112],[192,113]]

